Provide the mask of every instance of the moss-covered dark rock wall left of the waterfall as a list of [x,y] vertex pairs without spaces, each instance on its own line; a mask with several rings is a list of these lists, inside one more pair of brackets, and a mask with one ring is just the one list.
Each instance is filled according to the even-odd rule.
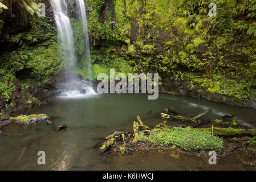
[[[1,113],[6,115],[10,114],[10,107],[18,105],[19,109],[23,109],[38,104],[29,88],[44,86],[50,76],[58,74],[63,68],[55,28],[36,16],[31,16],[29,21],[30,27],[26,31],[17,34],[9,32],[9,42],[14,49],[0,55],[0,94],[5,102]],[[22,99],[17,99],[18,93]]]

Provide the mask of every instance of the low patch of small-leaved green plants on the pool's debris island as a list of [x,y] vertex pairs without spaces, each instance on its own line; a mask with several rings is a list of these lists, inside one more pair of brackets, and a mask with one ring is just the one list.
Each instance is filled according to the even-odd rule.
[[173,127],[153,133],[150,137],[139,135],[138,140],[155,145],[172,144],[184,150],[216,150],[223,148],[223,139],[213,136],[208,131]]

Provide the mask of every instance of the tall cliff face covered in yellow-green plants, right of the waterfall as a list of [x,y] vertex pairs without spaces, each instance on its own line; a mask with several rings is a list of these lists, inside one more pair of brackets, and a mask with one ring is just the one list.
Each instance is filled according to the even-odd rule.
[[254,2],[219,0],[216,17],[208,15],[208,1],[86,4],[95,77],[99,68],[158,72],[163,92],[256,107]]

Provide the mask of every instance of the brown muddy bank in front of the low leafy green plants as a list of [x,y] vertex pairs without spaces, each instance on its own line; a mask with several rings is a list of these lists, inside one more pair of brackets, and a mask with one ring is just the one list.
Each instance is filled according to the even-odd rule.
[[250,164],[253,161],[255,162],[255,155],[245,154],[245,152],[241,151],[234,151],[233,154],[226,155],[224,158],[217,158],[217,165],[208,163],[209,156],[201,154],[186,155],[172,150],[133,151],[128,155],[113,152],[109,156],[103,156],[102,160],[102,163],[106,163],[105,167],[111,167],[116,170],[145,170],[145,168],[168,171],[256,170]]

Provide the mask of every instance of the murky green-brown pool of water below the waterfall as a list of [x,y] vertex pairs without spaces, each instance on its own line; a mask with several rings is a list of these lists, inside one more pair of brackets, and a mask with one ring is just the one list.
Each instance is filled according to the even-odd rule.
[[[116,169],[116,166],[122,165],[125,165],[123,169],[188,169],[188,163],[193,166],[193,160],[197,160],[194,156],[181,156],[179,160],[168,158],[169,162],[160,158],[159,164],[152,166],[141,162],[134,167],[127,163],[128,159],[122,160],[131,156],[116,157],[109,161],[107,156],[98,154],[97,148],[92,146],[103,142],[103,138],[115,131],[132,131],[136,115],[145,119],[152,116],[149,111],[156,113],[164,107],[173,106],[185,117],[194,117],[206,109],[214,109],[213,113],[207,115],[212,119],[221,118],[224,114],[237,114],[238,122],[244,125],[250,125],[249,122],[256,118],[254,109],[217,104],[192,97],[160,94],[157,100],[147,98],[146,94],[99,94],[74,100],[57,98],[51,104],[32,107],[26,110],[25,114],[47,114],[52,122],[57,125],[65,124],[68,129],[56,133],[52,126],[46,123],[31,126],[11,123],[3,127],[3,133],[22,135],[0,135],[0,169],[104,170]],[[144,121],[151,122],[150,119]],[[149,126],[155,125],[153,122],[156,121],[152,121]],[[24,148],[25,152],[21,156]],[[37,152],[41,150],[46,152],[46,165],[39,166]],[[139,155],[137,160],[148,159],[153,162],[157,158],[156,155],[153,156],[155,158]],[[178,166],[170,167],[168,163],[172,160],[177,160]],[[190,162],[185,162],[188,160]]]

